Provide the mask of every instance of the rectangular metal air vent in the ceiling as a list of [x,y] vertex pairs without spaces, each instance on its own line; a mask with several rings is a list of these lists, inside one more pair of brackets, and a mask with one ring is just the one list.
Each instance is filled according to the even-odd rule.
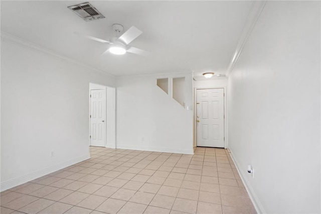
[[89,4],[89,2],[69,6],[68,8],[75,12],[78,16],[83,18],[85,21],[105,18],[96,8]]

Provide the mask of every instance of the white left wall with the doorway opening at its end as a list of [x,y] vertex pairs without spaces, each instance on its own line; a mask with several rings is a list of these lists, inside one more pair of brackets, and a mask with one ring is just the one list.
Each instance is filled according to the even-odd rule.
[[114,78],[24,42],[1,42],[5,190],[89,158],[89,82],[114,86]]

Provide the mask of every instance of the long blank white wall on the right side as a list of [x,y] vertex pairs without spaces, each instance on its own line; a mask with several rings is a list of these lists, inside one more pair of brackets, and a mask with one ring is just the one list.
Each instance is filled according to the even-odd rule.
[[319,213],[320,2],[266,3],[228,106],[229,149],[259,212]]

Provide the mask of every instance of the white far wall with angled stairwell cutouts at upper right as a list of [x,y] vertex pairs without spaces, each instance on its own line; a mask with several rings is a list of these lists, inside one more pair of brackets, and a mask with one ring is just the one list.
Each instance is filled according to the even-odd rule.
[[[156,85],[157,78],[185,76],[184,108]],[[116,147],[193,154],[192,74],[117,78]]]

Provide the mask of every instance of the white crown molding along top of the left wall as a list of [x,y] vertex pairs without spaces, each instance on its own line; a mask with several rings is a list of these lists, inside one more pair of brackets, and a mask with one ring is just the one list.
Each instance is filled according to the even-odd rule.
[[0,31],[1,33],[1,40],[2,41],[6,41],[6,42],[9,42],[9,43],[13,43],[13,44],[16,44],[18,46],[21,46],[23,48],[26,48],[26,49],[29,49],[29,50],[33,50],[33,51],[37,51],[37,52],[40,52],[40,53],[43,53],[43,54],[46,54],[46,55],[50,55],[50,56],[53,56],[53,57],[56,57],[56,58],[59,58],[59,59],[62,59],[62,60],[65,60],[67,62],[70,62],[70,63],[73,63],[73,64],[76,64],[78,66],[81,66],[81,67],[84,67],[84,68],[87,68],[87,69],[90,69],[90,70],[94,70],[94,71],[97,71],[97,72],[100,72],[100,73],[103,73],[107,76],[110,76],[110,77],[115,77],[114,75],[110,74],[110,73],[107,73],[103,70],[100,70],[100,69],[97,69],[97,68],[94,68],[90,65],[87,65],[87,64],[84,64],[84,63],[81,63],[77,60],[74,60],[74,59],[71,59],[71,58],[68,58],[66,56],[63,56],[61,54],[58,54],[56,53],[55,51],[53,50],[50,50],[50,49],[47,49],[47,48],[44,48],[40,45],[37,45],[35,43],[32,43],[32,42],[29,42],[29,41],[26,41],[20,37],[17,37],[17,36],[14,36],[12,34],[9,34],[7,32],[4,32],[4,31]]

